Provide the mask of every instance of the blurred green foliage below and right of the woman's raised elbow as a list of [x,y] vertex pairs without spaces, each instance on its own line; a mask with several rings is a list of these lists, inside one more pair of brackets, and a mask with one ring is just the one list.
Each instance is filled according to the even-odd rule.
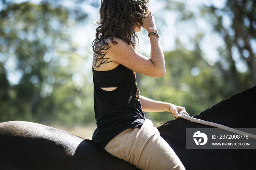
[[[180,48],[165,52],[165,61],[164,77],[139,75],[143,96],[183,106],[191,116],[231,96],[218,69],[200,58],[196,51]],[[170,113],[147,113],[147,116],[155,121],[173,119]]]

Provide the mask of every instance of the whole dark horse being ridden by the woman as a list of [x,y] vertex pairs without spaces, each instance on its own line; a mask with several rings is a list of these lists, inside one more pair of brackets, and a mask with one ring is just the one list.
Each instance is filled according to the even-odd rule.
[[[227,98],[195,116],[232,128],[256,128],[256,86]],[[186,149],[185,128],[207,128],[185,119],[158,127],[188,170],[255,169],[254,149]],[[41,124],[0,123],[0,169],[3,170],[132,170],[91,140]]]

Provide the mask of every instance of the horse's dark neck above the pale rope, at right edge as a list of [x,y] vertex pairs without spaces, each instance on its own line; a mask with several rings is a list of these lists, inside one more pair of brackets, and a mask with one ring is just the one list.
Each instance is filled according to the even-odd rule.
[[256,127],[256,86],[237,93],[195,117],[233,128]]

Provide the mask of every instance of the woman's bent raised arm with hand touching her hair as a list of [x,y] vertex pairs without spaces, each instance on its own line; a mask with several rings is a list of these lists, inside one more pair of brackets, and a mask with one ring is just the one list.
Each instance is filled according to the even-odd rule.
[[[143,20],[143,28],[145,28],[148,33],[157,33],[154,17],[151,13]],[[165,75],[165,60],[159,37],[151,34],[149,38],[151,44],[149,58],[139,54],[126,42],[118,38],[114,39],[117,42],[116,44],[109,44],[106,58],[109,58],[109,61],[113,61],[114,63],[120,63],[135,72],[150,77],[162,77]],[[114,65],[114,63],[111,63],[111,65]]]

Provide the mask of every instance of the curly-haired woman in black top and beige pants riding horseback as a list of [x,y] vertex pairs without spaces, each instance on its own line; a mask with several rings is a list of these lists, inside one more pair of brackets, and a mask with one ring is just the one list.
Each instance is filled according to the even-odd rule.
[[[143,111],[169,111],[175,117],[184,107],[139,95],[135,72],[165,75],[165,59],[148,0],[102,0],[93,42],[94,110],[97,128],[93,142],[140,169],[185,169]],[[148,31],[150,57],[136,50],[136,32]]]

